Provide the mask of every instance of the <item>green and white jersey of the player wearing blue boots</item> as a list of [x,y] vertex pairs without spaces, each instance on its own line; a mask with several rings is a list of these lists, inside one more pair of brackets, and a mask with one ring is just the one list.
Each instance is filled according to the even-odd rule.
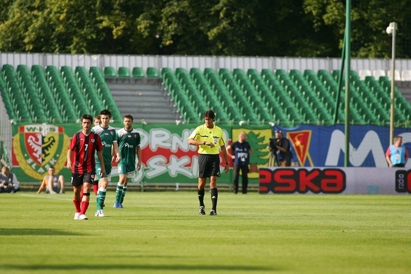
[[126,131],[124,127],[117,131],[121,162],[136,164],[136,150],[140,145],[140,134],[137,130]]

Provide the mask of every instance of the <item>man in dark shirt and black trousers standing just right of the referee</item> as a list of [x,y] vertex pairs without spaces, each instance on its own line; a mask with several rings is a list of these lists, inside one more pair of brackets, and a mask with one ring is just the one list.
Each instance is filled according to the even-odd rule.
[[[242,194],[247,194],[248,186],[248,172],[249,172],[249,163],[250,156],[253,153],[253,149],[250,146],[250,143],[246,141],[247,135],[245,132],[241,132],[238,135],[238,141],[235,141],[231,145],[227,146],[227,154],[233,159],[234,165],[234,180],[233,180],[233,192],[237,194],[238,192],[238,177],[241,171],[241,182],[242,182]],[[233,153],[230,153],[230,149]]]

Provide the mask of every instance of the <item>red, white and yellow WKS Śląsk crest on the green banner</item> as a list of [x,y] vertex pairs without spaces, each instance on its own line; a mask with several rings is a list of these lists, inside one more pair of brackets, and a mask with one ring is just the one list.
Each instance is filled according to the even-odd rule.
[[13,137],[13,151],[22,171],[42,180],[50,166],[54,166],[56,173],[63,169],[69,143],[62,126],[22,125]]

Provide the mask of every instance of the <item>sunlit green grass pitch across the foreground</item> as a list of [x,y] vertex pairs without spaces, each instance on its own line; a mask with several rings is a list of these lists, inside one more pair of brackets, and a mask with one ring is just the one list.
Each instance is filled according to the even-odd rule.
[[[0,195],[0,272],[409,273],[409,195],[132,192],[74,221],[72,194]],[[206,211],[211,207],[206,192]]]

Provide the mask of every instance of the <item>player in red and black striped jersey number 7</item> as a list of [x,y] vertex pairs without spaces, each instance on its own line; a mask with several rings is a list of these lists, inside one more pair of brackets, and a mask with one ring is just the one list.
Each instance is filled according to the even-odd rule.
[[[88,219],[85,213],[90,200],[90,187],[96,174],[96,153],[99,160],[103,162],[103,145],[100,136],[91,132],[91,121],[92,117],[90,115],[86,114],[81,117],[83,130],[74,133],[67,152],[67,168],[71,170],[71,185],[73,186],[74,193],[73,203],[74,207],[76,207],[74,220]],[[72,159],[74,159],[74,163]],[[101,167],[100,172],[102,174],[105,173],[104,166]],[[83,198],[80,199],[82,186]]]

